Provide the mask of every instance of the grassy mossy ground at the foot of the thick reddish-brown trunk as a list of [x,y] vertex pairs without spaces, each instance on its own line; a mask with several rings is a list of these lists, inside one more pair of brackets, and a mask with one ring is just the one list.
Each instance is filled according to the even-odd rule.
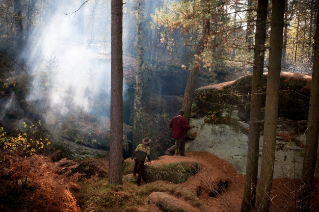
[[123,182],[123,185],[110,185],[107,178],[95,183],[80,183],[81,189],[73,195],[81,211],[88,212],[137,212],[147,204],[152,192],[165,192],[186,200],[190,205],[199,207],[200,200],[193,192],[180,185],[157,181],[143,186]]

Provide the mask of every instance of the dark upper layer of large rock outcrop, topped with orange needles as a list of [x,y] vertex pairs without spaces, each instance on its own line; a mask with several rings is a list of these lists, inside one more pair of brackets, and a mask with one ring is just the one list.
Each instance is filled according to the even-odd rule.
[[[312,77],[299,73],[281,72],[278,115],[292,120],[307,120]],[[224,110],[239,110],[239,118],[249,120],[252,75],[234,81],[212,84],[195,90],[197,114],[212,112],[208,122],[225,122],[221,117]],[[263,106],[266,103],[267,73],[263,76],[261,91]],[[234,108],[237,107],[237,108]]]

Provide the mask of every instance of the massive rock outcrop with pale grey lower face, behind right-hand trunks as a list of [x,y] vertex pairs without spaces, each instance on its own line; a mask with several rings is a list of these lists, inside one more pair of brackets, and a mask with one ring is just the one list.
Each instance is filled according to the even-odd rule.
[[[263,105],[266,101],[266,77]],[[245,175],[252,76],[198,88],[186,151],[206,151],[225,159]],[[274,177],[300,177],[306,140],[311,77],[283,72],[280,81]],[[263,154],[263,116],[259,166]],[[317,158],[319,160],[319,157]],[[260,172],[260,170],[259,170]],[[319,174],[317,162],[316,175]]]

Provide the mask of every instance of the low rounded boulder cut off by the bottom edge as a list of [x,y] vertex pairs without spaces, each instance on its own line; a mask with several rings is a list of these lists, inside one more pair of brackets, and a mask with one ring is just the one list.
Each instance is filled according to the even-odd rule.
[[183,200],[163,192],[153,192],[149,195],[149,203],[155,204],[162,212],[199,212]]

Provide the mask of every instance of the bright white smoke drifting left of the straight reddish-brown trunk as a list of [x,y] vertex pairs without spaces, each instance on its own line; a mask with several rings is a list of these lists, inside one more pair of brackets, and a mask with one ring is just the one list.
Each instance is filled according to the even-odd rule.
[[[50,108],[54,113],[66,115],[70,101],[89,113],[93,100],[101,93],[105,94],[104,97],[110,96],[110,62],[106,60],[110,57],[110,10],[103,16],[103,11],[99,10],[108,11],[103,7],[108,5],[107,2],[85,4],[84,46],[78,45],[77,15],[64,14],[65,11],[77,10],[74,4],[64,2],[51,18],[47,18],[43,28],[37,29],[41,35],[36,42],[32,42],[32,51],[27,55],[30,72],[36,76],[27,97],[28,102],[38,102],[37,107],[42,107],[43,100],[48,100],[46,111]],[[88,47],[88,40],[92,37],[95,39],[94,45]],[[126,88],[124,86],[124,93]],[[103,101],[109,102],[109,99]]]

